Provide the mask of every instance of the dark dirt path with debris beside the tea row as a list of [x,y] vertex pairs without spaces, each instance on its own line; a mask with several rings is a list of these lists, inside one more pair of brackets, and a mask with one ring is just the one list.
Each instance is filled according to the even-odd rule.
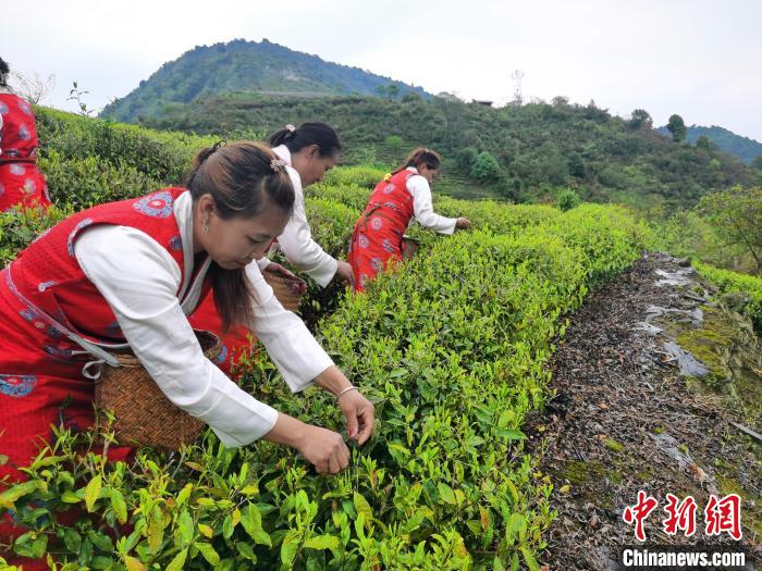
[[[762,445],[730,421],[762,431],[727,400],[689,389],[678,364],[701,365],[674,348],[671,355],[671,337],[657,326],[665,308],[684,321],[700,320],[706,307],[698,280],[677,260],[648,255],[572,318],[554,357],[556,396],[530,423],[532,442],[544,443],[534,448],[541,470],[556,489],[558,518],[543,557],[551,570],[620,569],[619,547],[637,543],[623,511],[641,489],[659,501],[647,520],[646,547],[742,545],[760,566]],[[742,499],[742,541],[706,537],[710,494],[733,492]],[[693,537],[661,530],[667,493],[696,499]]]

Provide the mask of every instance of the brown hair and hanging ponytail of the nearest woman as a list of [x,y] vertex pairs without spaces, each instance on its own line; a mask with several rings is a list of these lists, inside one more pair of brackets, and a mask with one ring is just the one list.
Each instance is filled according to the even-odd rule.
[[[201,149],[194,159],[185,186],[194,203],[210,195],[223,220],[256,216],[266,204],[291,213],[294,187],[278,157],[260,142],[237,141]],[[212,261],[209,280],[223,331],[254,319],[254,291],[244,269],[225,270]]]

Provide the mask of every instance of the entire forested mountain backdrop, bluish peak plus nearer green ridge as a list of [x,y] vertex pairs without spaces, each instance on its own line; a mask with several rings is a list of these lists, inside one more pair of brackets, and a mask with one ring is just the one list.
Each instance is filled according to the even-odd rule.
[[[563,97],[500,109],[466,103],[268,40],[196,47],[102,115],[226,138],[324,121],[344,140],[346,162],[385,166],[414,146],[438,149],[440,189],[462,197],[542,201],[572,187],[591,201],[675,207],[762,179],[762,160],[746,165],[723,152],[739,152],[740,138],[720,127],[691,145],[679,142],[685,133],[678,142],[661,136],[643,110],[623,120]],[[688,128],[688,141],[700,128]]]

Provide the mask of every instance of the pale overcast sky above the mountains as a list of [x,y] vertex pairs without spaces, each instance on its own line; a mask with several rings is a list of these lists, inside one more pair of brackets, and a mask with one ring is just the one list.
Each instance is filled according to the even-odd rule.
[[556,96],[654,125],[720,125],[762,141],[762,0],[25,0],[0,12],[0,57],[77,82],[88,109],[127,95],[196,46],[267,38],[470,100]]

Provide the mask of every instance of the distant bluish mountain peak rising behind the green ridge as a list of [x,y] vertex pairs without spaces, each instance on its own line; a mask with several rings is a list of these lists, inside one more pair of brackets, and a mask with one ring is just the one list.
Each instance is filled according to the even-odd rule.
[[327,62],[317,55],[290,50],[267,39],[236,39],[213,46],[197,46],[179,59],[164,63],[127,96],[109,104],[102,116],[116,121],[155,117],[173,103],[231,92],[316,97],[393,92],[428,97],[414,87],[358,67]]

